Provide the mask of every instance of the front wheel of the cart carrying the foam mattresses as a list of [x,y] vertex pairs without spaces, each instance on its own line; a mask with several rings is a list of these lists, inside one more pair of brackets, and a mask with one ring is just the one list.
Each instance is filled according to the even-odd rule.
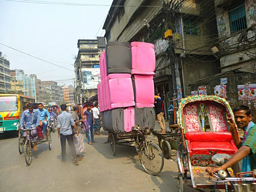
[[139,159],[145,172],[150,175],[157,175],[163,169],[163,153],[154,143],[148,143],[148,147],[146,145],[140,146]]

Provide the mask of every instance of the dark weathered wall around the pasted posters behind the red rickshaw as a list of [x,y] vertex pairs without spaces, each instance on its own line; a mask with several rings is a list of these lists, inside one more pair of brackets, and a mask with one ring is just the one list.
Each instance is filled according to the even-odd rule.
[[[253,73],[225,73],[219,76],[211,77],[208,79],[202,79],[201,81],[197,81],[195,83],[191,84],[191,90],[197,90],[199,86],[207,86],[207,95],[214,95],[214,87],[216,85],[219,85],[221,83],[221,78],[227,77],[227,84],[226,84],[226,90],[227,90],[227,101],[230,101],[231,108],[235,108],[237,105],[243,105],[243,100],[238,100],[238,90],[237,85],[239,84],[247,84],[250,82],[251,84],[256,83],[256,74]],[[245,100],[244,100],[245,101]],[[246,100],[247,105],[248,101],[250,101],[250,105],[248,105],[251,108],[253,119],[255,121],[256,119],[256,109],[254,108],[253,100]]]

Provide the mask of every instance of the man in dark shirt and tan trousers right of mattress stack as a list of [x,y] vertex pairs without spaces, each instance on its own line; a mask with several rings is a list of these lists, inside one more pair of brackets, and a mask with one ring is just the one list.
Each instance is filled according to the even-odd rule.
[[164,113],[163,113],[163,108],[162,108],[162,99],[160,96],[158,96],[158,93],[155,93],[154,96],[154,106],[156,109],[157,113],[157,122],[161,127],[161,132],[160,134],[165,134],[166,133],[166,127],[165,127],[165,120],[164,120]]

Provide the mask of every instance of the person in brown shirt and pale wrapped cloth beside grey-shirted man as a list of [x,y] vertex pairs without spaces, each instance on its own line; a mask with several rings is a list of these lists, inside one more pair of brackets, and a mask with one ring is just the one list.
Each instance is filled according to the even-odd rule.
[[76,128],[79,134],[76,134],[76,129],[72,126],[72,131],[73,131],[73,139],[74,139],[74,145],[76,148],[76,157],[79,160],[82,160],[82,156],[80,156],[79,154],[81,152],[84,151],[85,147],[84,147],[84,141],[83,141],[83,137],[82,137],[82,128],[81,128],[81,122],[84,121],[84,119],[79,120],[79,116],[78,116],[78,109],[79,106],[78,105],[74,105],[74,112],[72,113],[73,119],[76,123]]

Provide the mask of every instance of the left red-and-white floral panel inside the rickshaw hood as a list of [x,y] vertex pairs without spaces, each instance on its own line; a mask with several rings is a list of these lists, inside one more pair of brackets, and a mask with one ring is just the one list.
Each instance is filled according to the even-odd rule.
[[184,108],[187,131],[200,131],[197,110],[198,108],[196,104],[188,105]]

